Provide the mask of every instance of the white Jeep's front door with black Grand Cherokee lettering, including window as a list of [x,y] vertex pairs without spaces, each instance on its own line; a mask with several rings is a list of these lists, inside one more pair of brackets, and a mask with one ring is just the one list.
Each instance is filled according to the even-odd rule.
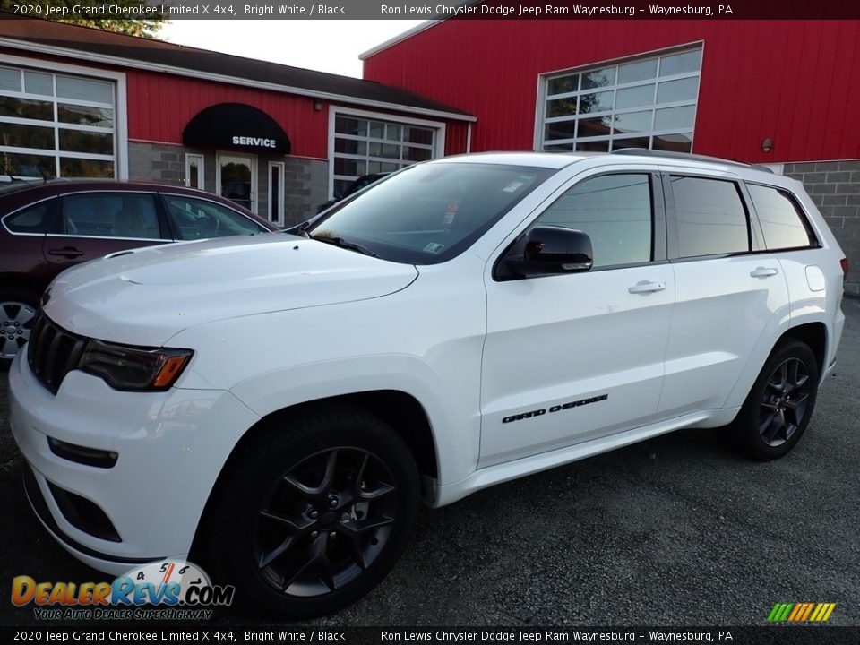
[[643,426],[657,412],[675,299],[659,176],[577,178],[553,200],[529,228],[586,232],[594,268],[486,276],[482,467]]

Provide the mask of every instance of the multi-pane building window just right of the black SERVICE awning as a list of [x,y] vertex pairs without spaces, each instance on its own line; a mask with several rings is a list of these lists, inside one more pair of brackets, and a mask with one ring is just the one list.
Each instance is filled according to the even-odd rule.
[[360,176],[390,173],[417,161],[434,159],[441,145],[435,124],[335,112],[331,193],[343,194]]

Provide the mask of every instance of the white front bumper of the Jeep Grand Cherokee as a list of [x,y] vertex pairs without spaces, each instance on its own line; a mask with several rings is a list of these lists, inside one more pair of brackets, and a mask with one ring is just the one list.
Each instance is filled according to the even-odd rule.
[[[9,392],[34,511],[67,551],[112,574],[188,554],[220,470],[259,420],[228,391],[121,392],[78,371],[66,375],[55,396],[23,353],[9,370]],[[116,452],[116,464],[60,456],[49,437]],[[93,529],[70,511],[70,499],[86,520],[96,517],[95,524],[114,532]]]

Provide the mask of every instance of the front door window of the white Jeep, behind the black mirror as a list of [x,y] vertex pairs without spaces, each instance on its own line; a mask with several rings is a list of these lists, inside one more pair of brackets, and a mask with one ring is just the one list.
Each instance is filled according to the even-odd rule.
[[604,175],[586,179],[546,209],[536,224],[587,233],[596,267],[649,262],[649,176]]

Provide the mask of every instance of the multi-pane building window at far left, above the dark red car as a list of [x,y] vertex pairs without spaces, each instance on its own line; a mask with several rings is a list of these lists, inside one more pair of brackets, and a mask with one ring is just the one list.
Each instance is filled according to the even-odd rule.
[[0,66],[0,163],[20,177],[116,176],[115,83]]

